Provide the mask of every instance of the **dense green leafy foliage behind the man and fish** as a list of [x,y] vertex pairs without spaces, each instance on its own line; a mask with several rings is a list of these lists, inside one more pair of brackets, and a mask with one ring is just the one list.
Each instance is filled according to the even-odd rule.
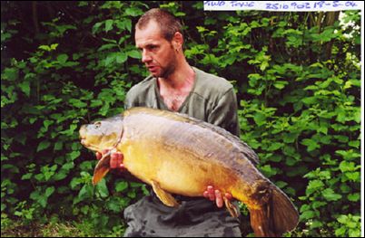
[[96,161],[78,129],[123,111],[147,75],[133,25],[161,6],[182,19],[188,61],[234,83],[242,140],[301,214],[286,236],[360,235],[360,12],[339,21],[204,12],[202,2],[35,6],[48,14],[31,19],[31,5],[2,2],[2,228],[7,214],[29,224],[56,213],[83,220],[81,230],[123,233],[123,209],[146,187],[118,175],[92,186]]

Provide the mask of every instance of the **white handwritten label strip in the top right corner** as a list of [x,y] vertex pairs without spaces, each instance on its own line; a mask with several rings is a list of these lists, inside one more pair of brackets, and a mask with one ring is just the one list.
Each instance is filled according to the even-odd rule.
[[204,1],[205,11],[264,10],[284,12],[364,9],[362,1]]

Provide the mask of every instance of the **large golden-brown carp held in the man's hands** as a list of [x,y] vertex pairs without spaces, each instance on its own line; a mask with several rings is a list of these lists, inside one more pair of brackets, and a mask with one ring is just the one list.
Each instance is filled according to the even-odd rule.
[[[171,194],[202,196],[214,186],[247,205],[256,236],[281,236],[298,224],[289,197],[256,168],[257,155],[225,129],[166,110],[133,108],[82,126],[80,138],[94,151],[123,153],[124,167],[152,186],[164,205],[179,205]],[[93,184],[109,170],[110,153],[96,165]]]

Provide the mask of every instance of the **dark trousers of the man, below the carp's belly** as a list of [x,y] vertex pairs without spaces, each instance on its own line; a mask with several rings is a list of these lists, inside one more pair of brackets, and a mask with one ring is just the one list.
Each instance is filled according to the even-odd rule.
[[205,198],[163,205],[155,195],[143,197],[124,210],[124,237],[240,237],[239,219]]

